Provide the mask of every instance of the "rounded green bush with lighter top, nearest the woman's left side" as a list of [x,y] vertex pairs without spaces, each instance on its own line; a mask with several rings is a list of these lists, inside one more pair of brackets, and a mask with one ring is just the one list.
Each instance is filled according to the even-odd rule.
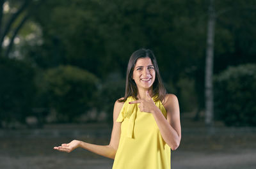
[[46,70],[42,80],[58,122],[74,122],[95,105],[98,78],[75,66],[58,66]]

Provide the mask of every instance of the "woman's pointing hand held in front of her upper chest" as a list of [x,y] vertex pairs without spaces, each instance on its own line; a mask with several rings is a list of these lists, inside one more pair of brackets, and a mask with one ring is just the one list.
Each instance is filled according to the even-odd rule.
[[140,108],[140,112],[148,112],[153,113],[154,110],[157,109],[157,106],[155,105],[153,99],[149,96],[148,91],[146,92],[147,98],[145,99],[138,99],[136,101],[131,101],[129,104],[136,104],[140,103],[138,107]]

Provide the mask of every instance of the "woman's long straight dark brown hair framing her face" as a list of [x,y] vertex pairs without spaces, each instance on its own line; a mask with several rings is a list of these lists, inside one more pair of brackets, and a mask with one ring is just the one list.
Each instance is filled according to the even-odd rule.
[[125,84],[125,96],[122,99],[119,99],[119,102],[124,102],[129,96],[132,96],[135,99],[138,95],[138,88],[134,80],[132,79],[134,66],[138,59],[149,57],[151,62],[154,65],[154,69],[156,72],[156,79],[153,84],[153,96],[156,96],[156,100],[163,101],[164,95],[166,94],[166,89],[163,85],[163,80],[159,73],[159,68],[157,65],[156,57],[153,54],[153,52],[149,49],[141,48],[139,50],[136,50],[130,57],[128,66],[127,66],[127,73],[126,73],[126,84]]

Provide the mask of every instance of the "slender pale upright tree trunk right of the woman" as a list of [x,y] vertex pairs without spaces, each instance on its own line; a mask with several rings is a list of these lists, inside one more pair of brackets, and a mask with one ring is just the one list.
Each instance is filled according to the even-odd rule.
[[214,57],[214,28],[215,11],[214,0],[209,1],[209,19],[207,24],[206,58],[205,58],[205,124],[213,126],[213,57]]

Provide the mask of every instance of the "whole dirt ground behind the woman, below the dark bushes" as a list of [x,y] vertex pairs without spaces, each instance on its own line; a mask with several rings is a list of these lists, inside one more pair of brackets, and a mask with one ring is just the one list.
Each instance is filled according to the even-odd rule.
[[[56,128],[51,130],[54,131],[54,129]],[[92,136],[79,135],[78,131],[70,130],[79,135],[76,137],[72,134],[43,135],[45,130],[47,128],[34,132],[37,133],[36,135],[19,135],[17,133],[24,133],[19,130],[7,135],[6,131],[1,131],[0,169],[111,168],[112,159],[102,158],[83,149],[77,149],[71,153],[57,152],[52,149],[55,145],[69,142],[73,138],[106,145],[109,142],[106,135],[109,133],[104,136],[100,134]],[[111,131],[110,128],[109,131]],[[183,128],[182,131],[180,147],[172,152],[172,169],[256,168],[255,129],[219,128],[212,134],[205,132],[202,128]],[[86,133],[84,130],[83,132]]]

